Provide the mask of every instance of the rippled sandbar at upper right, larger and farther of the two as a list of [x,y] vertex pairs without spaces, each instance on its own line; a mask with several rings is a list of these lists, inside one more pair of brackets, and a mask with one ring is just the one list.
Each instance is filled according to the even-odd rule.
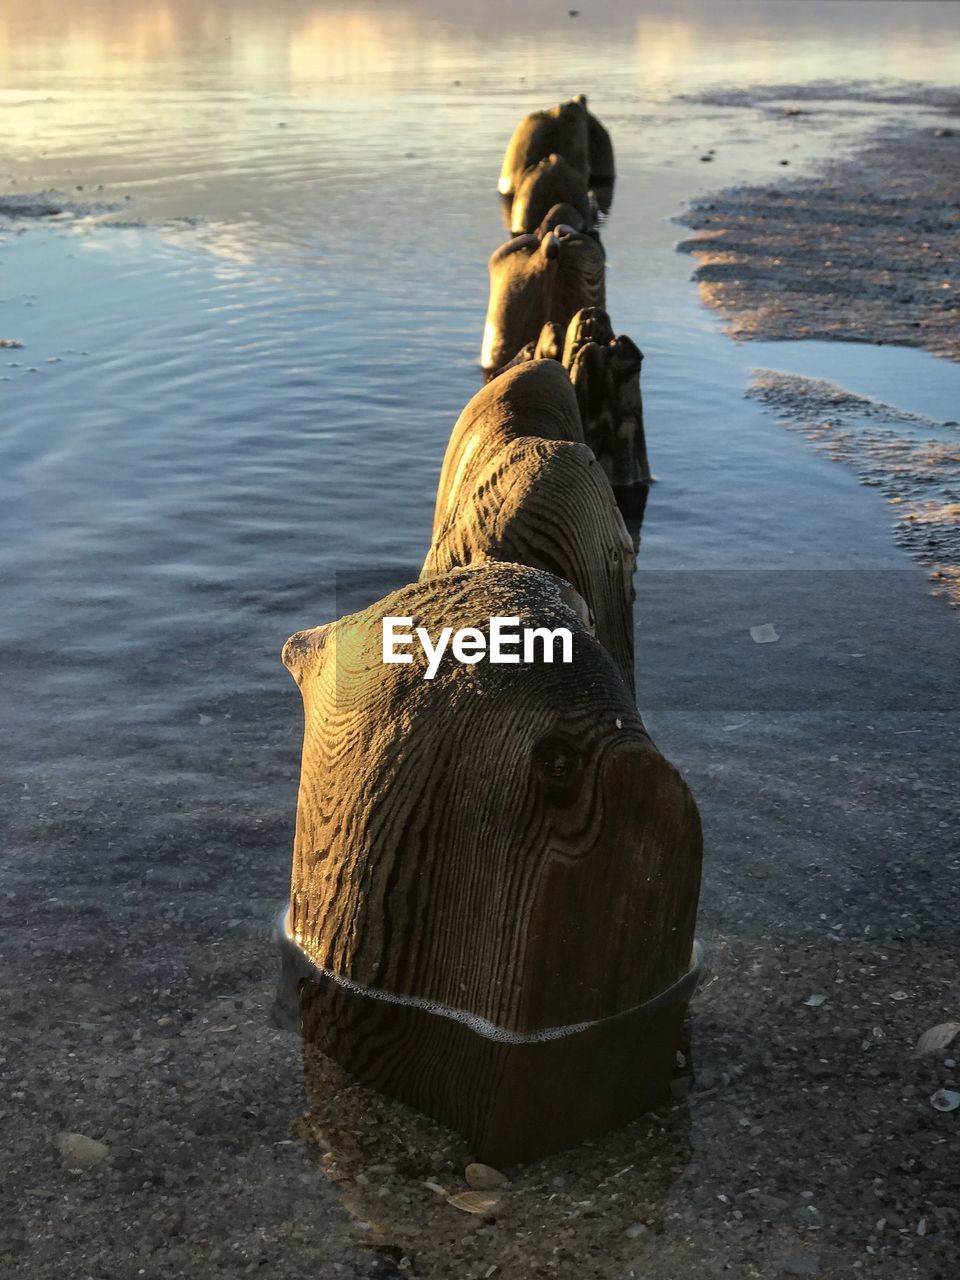
[[960,108],[937,104],[942,123],[884,133],[815,177],[691,204],[682,220],[696,234],[680,247],[699,260],[700,297],[731,337],[899,343],[960,360]]

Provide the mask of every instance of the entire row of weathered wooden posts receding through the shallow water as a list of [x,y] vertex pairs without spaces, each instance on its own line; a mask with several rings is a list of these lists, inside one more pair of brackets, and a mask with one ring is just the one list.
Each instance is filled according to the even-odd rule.
[[[696,978],[694,800],[635,701],[650,480],[641,355],[604,306],[613,148],[582,97],[503,163],[485,387],[447,447],[420,580],[292,636],[305,705],[285,964],[300,1023],[366,1085],[536,1158],[669,1091]],[[572,662],[384,664],[435,635],[566,627]]]

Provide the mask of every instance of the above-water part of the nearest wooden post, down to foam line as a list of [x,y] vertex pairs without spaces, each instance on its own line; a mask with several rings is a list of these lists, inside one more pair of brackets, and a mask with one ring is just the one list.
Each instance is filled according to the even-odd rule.
[[[687,969],[700,824],[558,579],[457,570],[293,636],[305,703],[292,932],[335,978],[531,1032]],[[383,617],[568,628],[571,663],[384,666]]]

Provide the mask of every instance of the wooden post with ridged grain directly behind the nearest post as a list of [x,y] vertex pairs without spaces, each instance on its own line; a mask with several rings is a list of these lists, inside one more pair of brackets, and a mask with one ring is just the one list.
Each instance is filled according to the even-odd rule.
[[451,493],[421,580],[488,561],[529,564],[570,582],[634,691],[634,544],[586,445],[522,436]]

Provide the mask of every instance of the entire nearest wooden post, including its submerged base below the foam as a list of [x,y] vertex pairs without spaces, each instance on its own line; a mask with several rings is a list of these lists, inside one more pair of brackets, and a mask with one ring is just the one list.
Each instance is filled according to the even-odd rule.
[[[575,607],[576,605],[576,607]],[[384,666],[381,620],[563,627],[572,662]],[[669,1091],[695,979],[696,806],[582,602],[486,564],[293,636],[305,704],[288,946],[303,1036],[532,1160]]]

